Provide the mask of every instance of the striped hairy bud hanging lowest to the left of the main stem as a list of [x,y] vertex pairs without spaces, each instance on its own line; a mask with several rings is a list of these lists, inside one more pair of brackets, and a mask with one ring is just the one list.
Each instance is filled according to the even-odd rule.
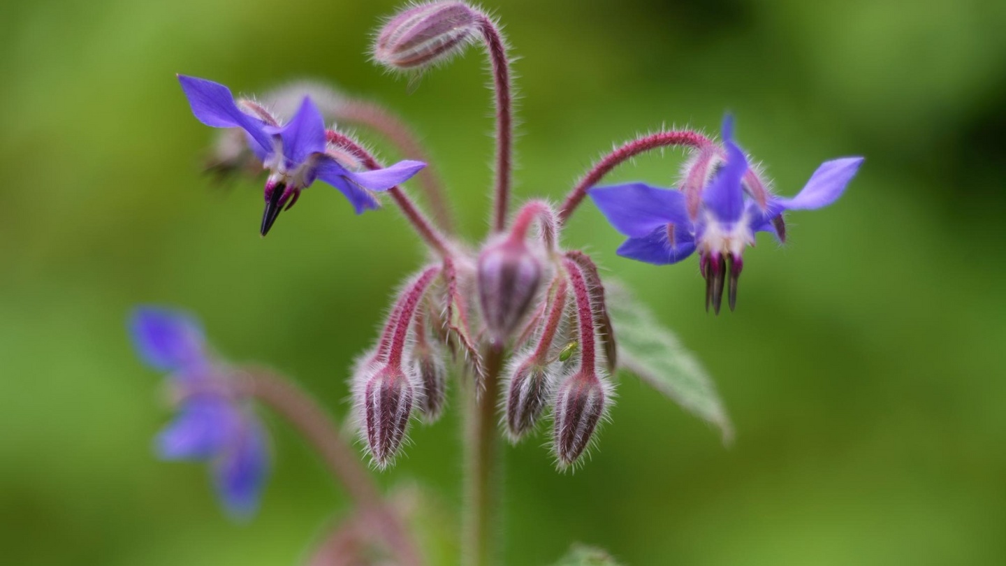
[[363,389],[363,424],[367,447],[378,466],[394,458],[405,437],[414,393],[408,379],[392,366],[384,366]]

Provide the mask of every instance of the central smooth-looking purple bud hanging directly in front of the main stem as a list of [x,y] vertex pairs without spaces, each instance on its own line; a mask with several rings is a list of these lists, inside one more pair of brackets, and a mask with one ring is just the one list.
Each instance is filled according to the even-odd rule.
[[490,336],[502,342],[517,327],[541,284],[541,262],[521,240],[507,238],[479,255],[479,302]]

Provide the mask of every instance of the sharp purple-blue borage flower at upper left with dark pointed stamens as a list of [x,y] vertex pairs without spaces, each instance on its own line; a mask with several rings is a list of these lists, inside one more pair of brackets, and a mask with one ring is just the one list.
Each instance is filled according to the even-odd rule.
[[235,101],[223,85],[183,75],[178,76],[178,82],[200,122],[214,128],[244,130],[248,147],[271,171],[266,181],[263,236],[280,211],[293,206],[301,191],[316,179],[339,189],[359,215],[378,206],[369,191],[391,188],[427,166],[422,161],[406,160],[383,169],[352,171],[340,163],[344,153],[328,143],[325,120],[310,98],[305,97],[290,122],[281,125],[256,103]]

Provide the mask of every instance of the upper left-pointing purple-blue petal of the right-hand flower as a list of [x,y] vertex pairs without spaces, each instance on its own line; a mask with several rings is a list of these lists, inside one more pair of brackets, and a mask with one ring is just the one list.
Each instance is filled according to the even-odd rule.
[[615,230],[631,238],[643,238],[668,223],[691,226],[684,194],[677,190],[634,182],[596,186],[588,194]]

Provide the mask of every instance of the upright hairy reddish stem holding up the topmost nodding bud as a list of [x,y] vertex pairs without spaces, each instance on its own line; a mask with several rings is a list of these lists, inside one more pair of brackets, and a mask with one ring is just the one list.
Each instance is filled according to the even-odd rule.
[[510,176],[513,171],[513,99],[510,93],[510,61],[503,35],[485,14],[479,14],[479,31],[486,42],[496,93],[496,189],[493,230],[503,232],[510,206]]

